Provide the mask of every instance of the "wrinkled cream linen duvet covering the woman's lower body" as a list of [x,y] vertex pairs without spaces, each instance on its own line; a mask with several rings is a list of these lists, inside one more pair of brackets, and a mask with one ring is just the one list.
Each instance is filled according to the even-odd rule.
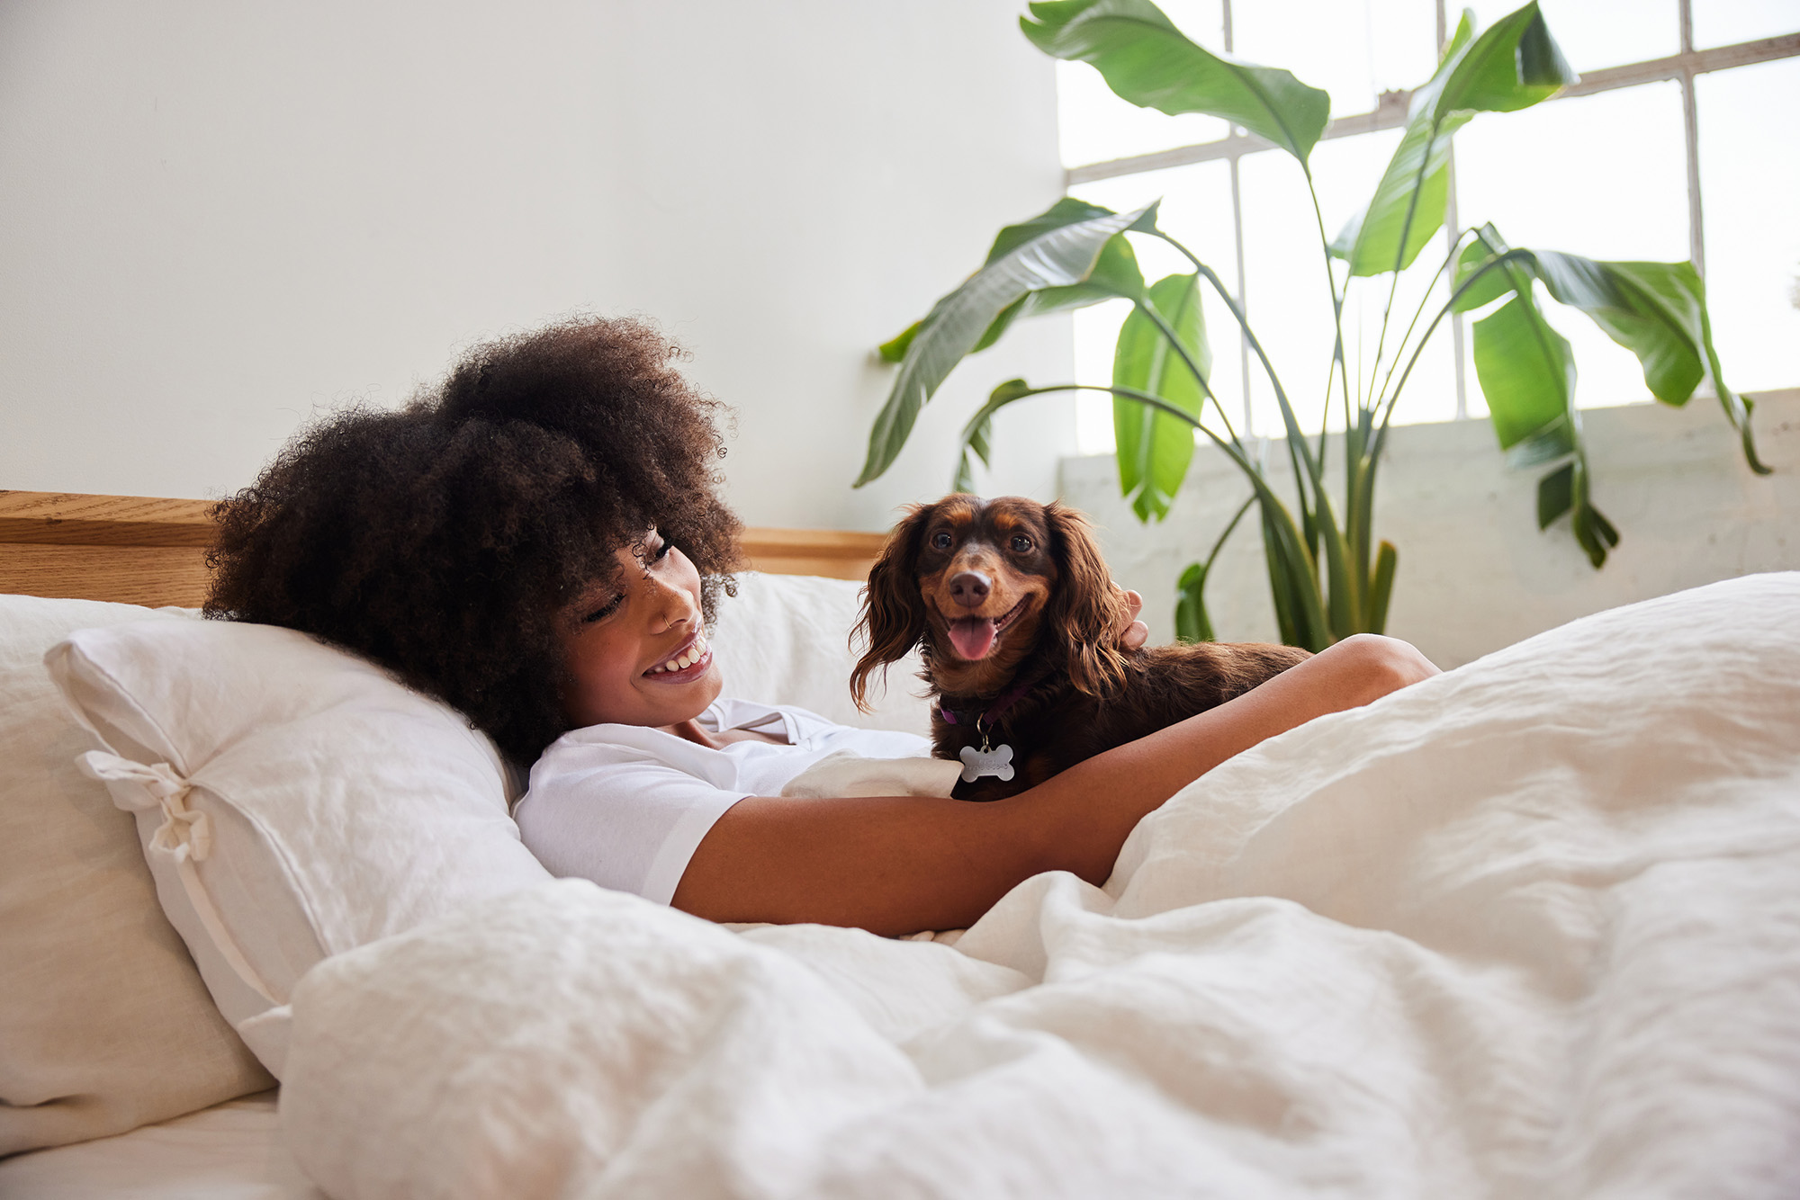
[[1226,763],[954,946],[545,883],[317,966],[349,1196],[1793,1196],[1800,576]]

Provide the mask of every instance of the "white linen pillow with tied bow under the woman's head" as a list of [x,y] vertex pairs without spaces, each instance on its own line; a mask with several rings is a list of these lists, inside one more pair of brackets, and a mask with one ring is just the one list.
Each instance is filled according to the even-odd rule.
[[551,878],[482,734],[304,633],[117,624],[45,664],[103,747],[83,770],[137,815],[164,912],[277,1078],[310,966]]

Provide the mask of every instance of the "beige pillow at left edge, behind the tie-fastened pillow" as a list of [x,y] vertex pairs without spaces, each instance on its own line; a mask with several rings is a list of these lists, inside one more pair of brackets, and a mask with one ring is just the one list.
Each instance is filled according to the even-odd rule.
[[270,1085],[157,907],[131,819],[43,651],[180,610],[0,596],[0,1155],[122,1133]]

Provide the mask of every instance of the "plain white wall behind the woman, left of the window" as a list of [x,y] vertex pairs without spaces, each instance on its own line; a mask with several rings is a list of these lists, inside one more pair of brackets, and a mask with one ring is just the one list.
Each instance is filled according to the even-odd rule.
[[[1069,374],[1022,326],[850,491],[869,349],[1062,191],[1021,7],[7,0],[0,488],[216,497],[319,407],[635,311],[736,408],[751,524],[886,527],[986,385]],[[1001,423],[994,489],[1049,495],[1067,403]]]

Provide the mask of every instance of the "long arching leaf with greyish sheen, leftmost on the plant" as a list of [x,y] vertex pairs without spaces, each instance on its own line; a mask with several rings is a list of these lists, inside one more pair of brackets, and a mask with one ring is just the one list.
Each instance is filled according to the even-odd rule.
[[907,338],[893,390],[869,430],[869,455],[855,486],[893,466],[918,421],[918,410],[1008,306],[1031,291],[1087,282],[1107,241],[1127,228],[1154,228],[1154,221],[1156,205],[1150,205],[1048,228],[990,257],[963,286],[940,299]]

